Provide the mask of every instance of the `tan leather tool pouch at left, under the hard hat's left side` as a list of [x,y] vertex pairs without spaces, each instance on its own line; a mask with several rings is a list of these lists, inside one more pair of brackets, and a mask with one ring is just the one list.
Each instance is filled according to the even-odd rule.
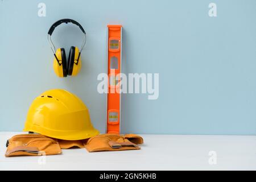
[[17,155],[55,155],[61,154],[57,139],[40,134],[15,135],[6,143],[6,157]]

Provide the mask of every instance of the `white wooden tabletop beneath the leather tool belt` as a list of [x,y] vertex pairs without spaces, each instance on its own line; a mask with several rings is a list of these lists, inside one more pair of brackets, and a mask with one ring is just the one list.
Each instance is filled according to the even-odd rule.
[[141,135],[141,150],[6,158],[15,134],[0,132],[0,170],[256,170],[256,136]]

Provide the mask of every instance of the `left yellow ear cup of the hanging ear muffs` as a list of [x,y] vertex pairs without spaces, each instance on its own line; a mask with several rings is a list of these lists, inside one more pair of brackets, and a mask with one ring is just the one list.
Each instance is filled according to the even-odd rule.
[[53,59],[53,70],[58,77],[67,77],[67,61],[64,48],[58,48]]

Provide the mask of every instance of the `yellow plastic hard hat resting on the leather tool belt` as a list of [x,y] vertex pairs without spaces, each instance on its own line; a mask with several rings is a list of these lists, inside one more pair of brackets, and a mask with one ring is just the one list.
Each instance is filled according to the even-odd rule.
[[86,139],[99,134],[80,98],[61,89],[48,90],[35,98],[28,110],[24,131],[64,140]]

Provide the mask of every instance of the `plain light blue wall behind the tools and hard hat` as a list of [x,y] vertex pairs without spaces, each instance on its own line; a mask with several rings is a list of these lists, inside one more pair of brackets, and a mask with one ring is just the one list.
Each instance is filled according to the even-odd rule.
[[[46,17],[38,3],[46,3]],[[208,16],[210,2],[217,17]],[[82,70],[57,78],[49,26],[72,18],[85,27]],[[20,131],[32,100],[67,89],[89,107],[105,131],[106,24],[123,25],[123,72],[159,73],[159,98],[123,94],[122,132],[256,134],[256,1],[0,1],[0,130]],[[80,46],[76,26],[58,27],[57,47]],[[68,51],[67,51],[68,52]]]

